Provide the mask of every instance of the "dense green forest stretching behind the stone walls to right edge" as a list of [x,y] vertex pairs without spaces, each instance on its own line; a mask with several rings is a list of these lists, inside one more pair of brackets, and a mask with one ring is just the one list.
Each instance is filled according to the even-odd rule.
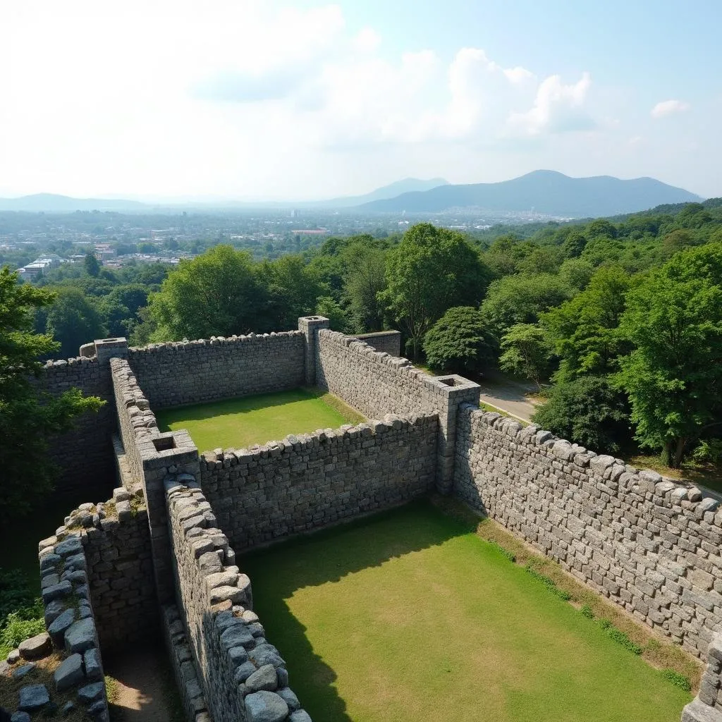
[[434,371],[531,379],[534,421],[588,448],[672,468],[722,456],[721,199],[475,236],[419,223],[274,260],[231,245],[173,269],[87,256],[41,283],[56,295],[35,330],[61,356],[102,336],[279,331],[318,313],[339,331],[397,328]]

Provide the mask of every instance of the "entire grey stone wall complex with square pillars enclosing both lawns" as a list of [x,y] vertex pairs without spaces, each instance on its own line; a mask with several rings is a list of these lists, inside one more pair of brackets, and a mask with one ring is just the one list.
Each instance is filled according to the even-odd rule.
[[[56,448],[65,478],[79,470],[79,479],[95,475],[83,483],[98,495],[112,482],[115,459],[123,484],[110,502],[81,505],[40,544],[51,637],[60,640],[65,622],[92,619],[102,670],[98,640],[121,649],[162,631],[190,722],[310,722],[252,611],[251,582],[235,565],[234,549],[435,487],[706,656],[700,694],[683,721],[722,722],[718,502],[482,412],[477,384],[415,368],[399,357],[395,332],[365,341],[328,326],[310,316],[290,333],[144,349],[102,339],[77,359],[48,362],[38,383],[50,393],[77,387],[109,402]],[[188,432],[160,432],[152,411],[303,384],[383,421],[199,456]],[[76,599],[79,606],[70,604]],[[78,684],[87,685],[97,674],[95,656],[75,668]]]

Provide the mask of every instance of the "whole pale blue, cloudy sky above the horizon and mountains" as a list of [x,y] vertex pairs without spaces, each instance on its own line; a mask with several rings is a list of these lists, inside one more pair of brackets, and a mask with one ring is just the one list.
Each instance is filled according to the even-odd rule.
[[539,168],[722,196],[719,0],[2,0],[0,196]]

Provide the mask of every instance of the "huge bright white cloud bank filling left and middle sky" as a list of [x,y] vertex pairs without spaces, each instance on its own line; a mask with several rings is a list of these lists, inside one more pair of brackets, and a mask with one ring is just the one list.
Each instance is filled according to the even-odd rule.
[[[481,48],[393,53],[336,5],[15,6],[0,43],[4,193],[336,194],[592,125],[588,74],[540,82]],[[336,187],[352,173],[360,187]]]

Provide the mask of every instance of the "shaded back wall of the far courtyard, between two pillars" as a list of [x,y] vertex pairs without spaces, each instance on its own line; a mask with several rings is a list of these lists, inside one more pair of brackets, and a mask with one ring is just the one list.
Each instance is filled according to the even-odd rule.
[[299,331],[152,344],[130,349],[129,362],[156,410],[304,384]]

